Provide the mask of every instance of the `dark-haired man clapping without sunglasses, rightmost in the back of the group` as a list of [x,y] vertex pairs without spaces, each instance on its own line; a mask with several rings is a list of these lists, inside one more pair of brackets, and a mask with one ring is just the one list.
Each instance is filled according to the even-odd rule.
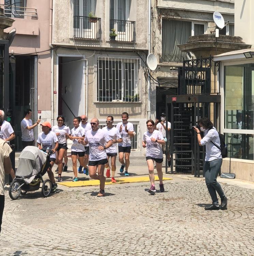
[[[127,112],[122,113],[122,122],[118,123],[116,128],[119,130],[123,141],[118,144],[119,162],[121,163],[120,172],[123,172],[125,167],[125,176],[129,176],[128,168],[130,165],[130,153],[131,153],[131,138],[134,136],[133,124],[128,122],[129,114]],[[125,163],[123,160],[125,159]]]

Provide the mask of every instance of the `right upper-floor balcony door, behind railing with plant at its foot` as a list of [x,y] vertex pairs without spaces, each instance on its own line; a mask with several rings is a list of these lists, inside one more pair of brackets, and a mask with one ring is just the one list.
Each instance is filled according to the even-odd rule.
[[128,22],[131,0],[110,0],[110,30],[115,29],[117,41],[133,41],[133,24]]

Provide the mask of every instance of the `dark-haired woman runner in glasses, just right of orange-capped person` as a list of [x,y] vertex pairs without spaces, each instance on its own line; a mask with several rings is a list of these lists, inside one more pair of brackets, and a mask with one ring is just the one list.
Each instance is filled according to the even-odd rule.
[[71,136],[71,130],[68,126],[64,125],[64,117],[59,115],[57,117],[57,125],[52,127],[52,131],[56,133],[59,146],[57,148],[58,159],[56,164],[58,165],[58,178],[57,181],[62,181],[62,171],[64,167],[63,157],[65,152],[68,150],[67,148],[67,138]]

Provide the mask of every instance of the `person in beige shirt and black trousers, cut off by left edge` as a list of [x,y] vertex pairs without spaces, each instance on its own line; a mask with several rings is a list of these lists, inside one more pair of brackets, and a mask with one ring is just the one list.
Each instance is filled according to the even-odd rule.
[[11,152],[12,149],[8,143],[0,139],[0,233],[4,208],[4,176],[10,174],[12,170]]

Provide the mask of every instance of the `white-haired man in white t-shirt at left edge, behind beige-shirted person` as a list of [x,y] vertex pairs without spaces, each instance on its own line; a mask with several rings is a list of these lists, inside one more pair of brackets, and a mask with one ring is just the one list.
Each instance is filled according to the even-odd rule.
[[[15,133],[11,124],[4,120],[4,112],[0,110],[0,139],[6,141],[10,145],[10,141],[15,139]],[[15,178],[15,172],[11,169],[10,175]]]

